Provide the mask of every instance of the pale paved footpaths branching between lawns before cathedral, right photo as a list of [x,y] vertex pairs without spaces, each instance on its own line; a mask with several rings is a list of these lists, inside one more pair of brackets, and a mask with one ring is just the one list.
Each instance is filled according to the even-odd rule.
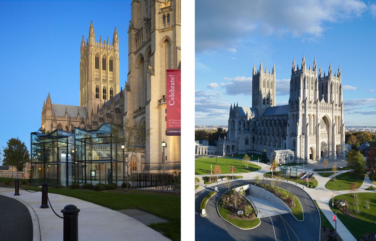
[[[235,158],[233,158],[233,159],[235,159]],[[252,161],[252,163],[254,163],[256,165],[258,164],[257,160]],[[347,166],[346,160],[344,160],[344,159],[337,159],[337,160],[329,159],[329,163],[328,163],[328,166],[327,166],[327,169],[328,169],[327,172],[331,172],[331,167],[333,166],[334,163],[337,163],[337,167]],[[261,166],[261,169],[256,171],[256,172],[236,173],[236,174],[234,173],[234,176],[235,175],[244,176],[243,180],[252,181],[255,178],[255,176],[260,176],[262,178],[264,173],[270,172],[270,170],[269,170],[270,166],[269,165],[264,164],[264,163],[259,163],[259,166]],[[297,167],[298,167],[297,168],[298,173],[300,173],[300,172],[312,173],[313,169],[324,168],[322,162],[310,163],[310,164],[305,164],[305,165],[298,165]],[[279,169],[277,168],[276,170],[279,170]],[[338,171],[338,173],[336,173],[335,175],[339,175],[341,173],[349,172],[349,171],[351,171],[351,170],[341,170],[341,171]],[[369,174],[369,173],[367,173],[367,174]],[[369,176],[367,174],[366,174],[364,182],[363,182],[362,186],[359,188],[358,192],[376,192],[376,191],[373,191],[373,190],[364,190],[365,188],[370,187],[372,185],[372,183],[369,179]],[[196,175],[196,177],[200,179],[199,176],[205,176],[205,175]],[[327,178],[322,177],[320,175],[315,175],[315,178],[318,181],[318,186],[316,188],[307,188],[307,187],[304,188],[304,191],[306,191],[306,193],[313,200],[316,200],[316,202],[317,202],[318,206],[320,207],[321,211],[323,212],[325,217],[330,222],[332,222],[332,220],[333,220],[333,212],[331,211],[331,209],[328,205],[329,200],[331,199],[331,190],[327,190],[325,188],[325,184],[326,184],[327,181],[329,181],[333,177],[334,177],[334,175],[331,175]],[[202,180],[202,177],[201,177],[201,180]],[[268,178],[268,180],[270,180],[270,178]],[[234,184],[236,183],[236,181],[232,181],[232,182],[234,182]],[[202,183],[203,183],[203,181],[202,181]],[[205,185],[202,186],[202,183],[200,183],[200,187],[198,187],[196,189],[196,196],[197,196],[198,192],[205,190]],[[218,182],[218,184],[217,183],[208,184],[208,185],[206,185],[207,186],[206,189],[213,189],[214,190],[214,186],[217,186],[217,185],[219,186],[220,183],[221,182]],[[234,184],[232,184],[232,186],[234,186]],[[303,185],[297,184],[297,187],[303,188]],[[338,196],[338,195],[346,194],[346,193],[351,193],[351,191],[350,190],[334,191],[334,196]],[[198,207],[198,205],[196,205],[196,206]],[[306,218],[306,214],[305,214],[305,218]],[[196,218],[196,220],[197,220],[197,218]],[[341,222],[341,220],[338,217],[337,217],[337,232],[343,240],[346,240],[346,241],[355,241],[356,240],[354,238],[354,236],[349,232],[349,230],[347,230],[347,228],[344,226],[344,224]],[[305,240],[305,239],[303,239],[303,240]]]

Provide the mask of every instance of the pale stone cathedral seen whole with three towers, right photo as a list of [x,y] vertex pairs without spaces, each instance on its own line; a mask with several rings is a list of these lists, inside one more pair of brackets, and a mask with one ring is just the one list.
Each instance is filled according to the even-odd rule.
[[227,137],[218,141],[220,155],[259,153],[270,161],[312,163],[344,157],[341,70],[327,75],[295,59],[291,68],[288,105],[276,106],[276,69],[253,65],[252,107],[230,106]]

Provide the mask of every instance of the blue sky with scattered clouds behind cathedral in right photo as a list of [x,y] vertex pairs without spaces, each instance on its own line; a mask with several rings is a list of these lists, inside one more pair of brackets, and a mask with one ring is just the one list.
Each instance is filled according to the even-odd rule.
[[[211,9],[211,11],[207,11]],[[287,104],[293,57],[341,67],[345,125],[376,126],[376,2],[196,1],[196,125],[226,125],[231,103],[252,105],[252,68],[276,66]]]

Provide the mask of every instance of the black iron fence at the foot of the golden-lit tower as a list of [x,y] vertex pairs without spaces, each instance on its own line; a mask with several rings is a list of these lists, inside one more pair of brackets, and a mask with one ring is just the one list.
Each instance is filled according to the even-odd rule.
[[133,173],[132,188],[180,190],[179,173]]

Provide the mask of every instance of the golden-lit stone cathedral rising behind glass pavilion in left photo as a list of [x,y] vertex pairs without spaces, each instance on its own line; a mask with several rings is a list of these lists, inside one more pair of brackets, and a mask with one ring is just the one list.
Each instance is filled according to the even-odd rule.
[[[145,126],[150,136],[137,154],[133,172],[180,172],[180,136],[166,136],[166,69],[180,68],[180,0],[132,0],[128,33],[128,74],[119,84],[119,39],[95,39],[91,22],[80,46],[80,105],[52,103],[42,107],[41,127],[73,132],[104,123]],[[97,35],[98,36],[98,35]],[[119,90],[120,88],[120,90]],[[165,141],[165,157],[161,143]]]

